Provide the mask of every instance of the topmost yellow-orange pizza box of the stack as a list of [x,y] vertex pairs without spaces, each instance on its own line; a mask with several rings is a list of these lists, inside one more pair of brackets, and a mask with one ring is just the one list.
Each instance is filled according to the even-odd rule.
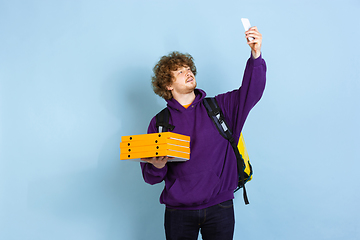
[[180,141],[190,142],[190,137],[173,132],[162,133],[148,133],[139,135],[130,135],[121,137],[121,142],[133,142],[133,141],[153,141],[160,139],[177,139]]

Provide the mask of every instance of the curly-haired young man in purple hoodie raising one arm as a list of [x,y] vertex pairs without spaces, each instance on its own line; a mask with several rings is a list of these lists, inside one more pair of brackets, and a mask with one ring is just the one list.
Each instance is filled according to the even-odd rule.
[[[261,57],[262,35],[256,27],[245,32],[251,57],[239,89],[215,96],[234,138],[239,139],[252,107],[265,88],[266,64]],[[167,101],[173,132],[190,136],[190,160],[168,162],[168,157],[146,158],[141,163],[149,184],[165,181],[160,202],[166,205],[167,239],[232,239],[234,232],[234,189],[238,174],[234,151],[208,116],[196,88],[196,67],[189,54],[173,52],[154,67],[154,92]],[[221,81],[221,79],[218,79]],[[148,133],[157,132],[155,117]]]

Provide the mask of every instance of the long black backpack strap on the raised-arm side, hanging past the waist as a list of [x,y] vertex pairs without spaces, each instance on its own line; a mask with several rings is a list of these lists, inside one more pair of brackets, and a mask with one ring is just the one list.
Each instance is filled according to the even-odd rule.
[[230,142],[232,148],[234,149],[234,153],[237,160],[237,170],[240,176],[240,181],[238,181],[238,187],[235,190],[235,192],[240,188],[243,188],[243,196],[244,196],[245,204],[249,204],[249,200],[245,189],[245,176],[244,176],[245,163],[244,163],[244,159],[242,158],[239,152],[237,143],[232,135],[231,129],[229,128],[229,125],[226,123],[225,117],[215,98],[204,98],[203,102],[209,117],[214,122],[220,135],[223,136],[225,139],[227,139]]

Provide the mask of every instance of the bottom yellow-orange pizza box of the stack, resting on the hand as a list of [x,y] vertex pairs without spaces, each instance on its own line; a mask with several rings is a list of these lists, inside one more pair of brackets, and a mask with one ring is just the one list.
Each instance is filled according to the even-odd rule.
[[120,160],[130,160],[130,159],[140,160],[140,158],[161,157],[161,156],[175,157],[177,161],[186,161],[190,159],[190,153],[184,153],[184,152],[178,152],[178,151],[166,149],[160,151],[121,153]]

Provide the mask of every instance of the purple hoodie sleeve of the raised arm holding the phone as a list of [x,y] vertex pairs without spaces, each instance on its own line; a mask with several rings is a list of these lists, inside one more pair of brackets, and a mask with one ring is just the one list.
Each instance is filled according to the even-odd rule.
[[216,96],[235,139],[240,137],[250,110],[260,100],[265,89],[266,63],[262,56],[250,57],[246,63],[239,89]]

